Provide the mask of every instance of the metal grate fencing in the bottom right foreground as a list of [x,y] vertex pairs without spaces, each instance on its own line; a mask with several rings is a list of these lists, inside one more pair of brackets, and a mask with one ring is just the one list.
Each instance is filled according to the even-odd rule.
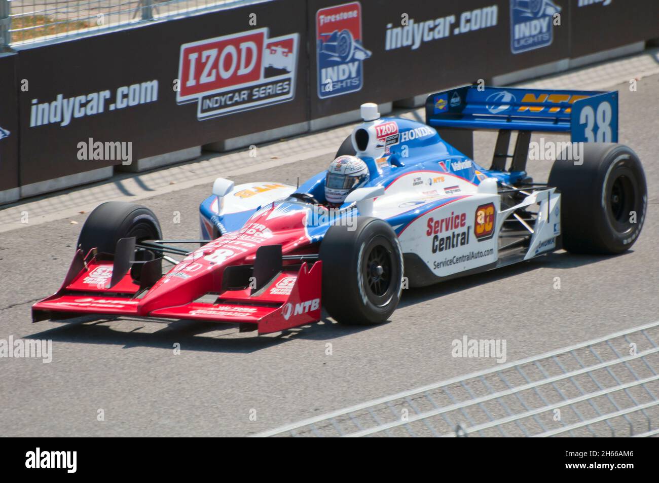
[[659,322],[256,436],[656,436]]

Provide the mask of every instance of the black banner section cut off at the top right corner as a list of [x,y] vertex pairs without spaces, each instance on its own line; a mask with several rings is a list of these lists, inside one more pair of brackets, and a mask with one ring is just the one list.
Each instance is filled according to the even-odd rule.
[[659,0],[570,0],[571,57],[659,38]]

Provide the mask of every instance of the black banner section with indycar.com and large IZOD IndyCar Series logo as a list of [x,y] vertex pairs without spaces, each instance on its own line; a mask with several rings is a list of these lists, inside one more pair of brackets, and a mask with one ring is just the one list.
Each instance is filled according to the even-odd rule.
[[24,49],[21,183],[308,119],[306,3],[273,0]]

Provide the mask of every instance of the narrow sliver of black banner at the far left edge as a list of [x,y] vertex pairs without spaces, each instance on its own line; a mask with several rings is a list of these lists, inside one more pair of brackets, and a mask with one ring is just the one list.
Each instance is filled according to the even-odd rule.
[[18,187],[17,59],[0,55],[0,191]]

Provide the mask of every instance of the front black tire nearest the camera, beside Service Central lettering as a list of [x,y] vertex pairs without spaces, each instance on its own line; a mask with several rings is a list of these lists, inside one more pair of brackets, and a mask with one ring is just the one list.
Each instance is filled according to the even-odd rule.
[[403,287],[403,253],[386,221],[358,217],[329,227],[320,244],[322,300],[340,324],[374,325],[395,310]]

